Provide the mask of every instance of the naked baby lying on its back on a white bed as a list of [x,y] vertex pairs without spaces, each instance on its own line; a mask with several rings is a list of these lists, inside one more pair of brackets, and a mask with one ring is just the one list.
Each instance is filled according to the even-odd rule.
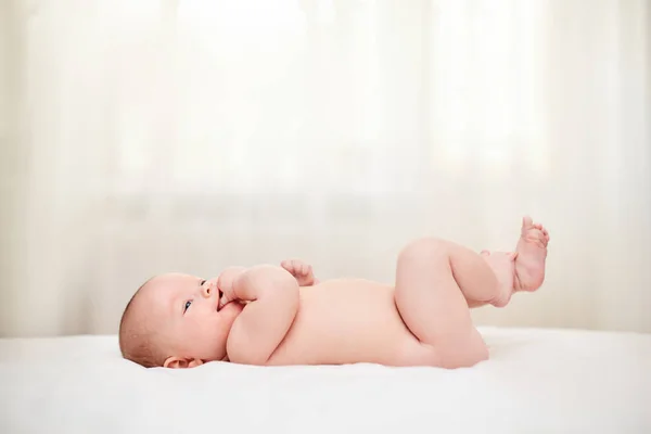
[[549,234],[529,217],[514,252],[476,254],[423,238],[399,254],[395,285],[318,282],[311,267],[231,267],[217,278],[145,282],[123,315],[119,346],[144,367],[222,360],[257,366],[471,367],[488,358],[469,308],[506,306],[545,279]]

